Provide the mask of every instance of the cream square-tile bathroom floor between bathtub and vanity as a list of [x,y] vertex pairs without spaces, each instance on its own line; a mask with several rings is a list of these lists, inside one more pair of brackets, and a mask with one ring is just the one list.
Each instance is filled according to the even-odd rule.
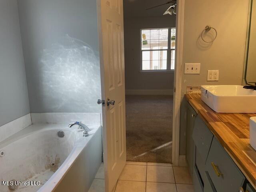
[[[89,192],[104,192],[104,165]],[[194,192],[187,167],[166,163],[127,162],[115,192]]]

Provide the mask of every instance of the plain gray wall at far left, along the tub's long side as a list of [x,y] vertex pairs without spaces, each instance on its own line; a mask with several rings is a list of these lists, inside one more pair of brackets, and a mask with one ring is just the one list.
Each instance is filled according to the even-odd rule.
[[0,126],[30,112],[16,0],[0,0]]

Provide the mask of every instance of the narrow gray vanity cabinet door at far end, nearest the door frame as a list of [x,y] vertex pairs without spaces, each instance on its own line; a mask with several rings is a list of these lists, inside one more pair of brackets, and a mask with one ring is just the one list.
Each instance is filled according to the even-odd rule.
[[192,133],[194,130],[194,122],[197,114],[194,111],[194,109],[188,104],[188,110],[187,110],[187,141],[186,141],[186,158],[188,162],[188,167],[190,169],[190,174],[193,173],[193,167],[194,167],[194,141],[192,139]]

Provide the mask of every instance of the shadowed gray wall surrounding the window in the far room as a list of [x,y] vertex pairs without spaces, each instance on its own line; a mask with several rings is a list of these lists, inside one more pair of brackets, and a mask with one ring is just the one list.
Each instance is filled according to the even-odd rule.
[[[132,15],[131,15],[132,16]],[[176,26],[175,16],[124,18],[126,90],[173,89],[173,73],[140,73],[140,29]]]

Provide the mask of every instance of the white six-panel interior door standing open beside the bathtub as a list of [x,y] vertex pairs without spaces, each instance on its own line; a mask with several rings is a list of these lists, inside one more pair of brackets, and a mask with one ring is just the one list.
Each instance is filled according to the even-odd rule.
[[123,0],[98,0],[98,26],[105,188],[112,192],[126,164]]

